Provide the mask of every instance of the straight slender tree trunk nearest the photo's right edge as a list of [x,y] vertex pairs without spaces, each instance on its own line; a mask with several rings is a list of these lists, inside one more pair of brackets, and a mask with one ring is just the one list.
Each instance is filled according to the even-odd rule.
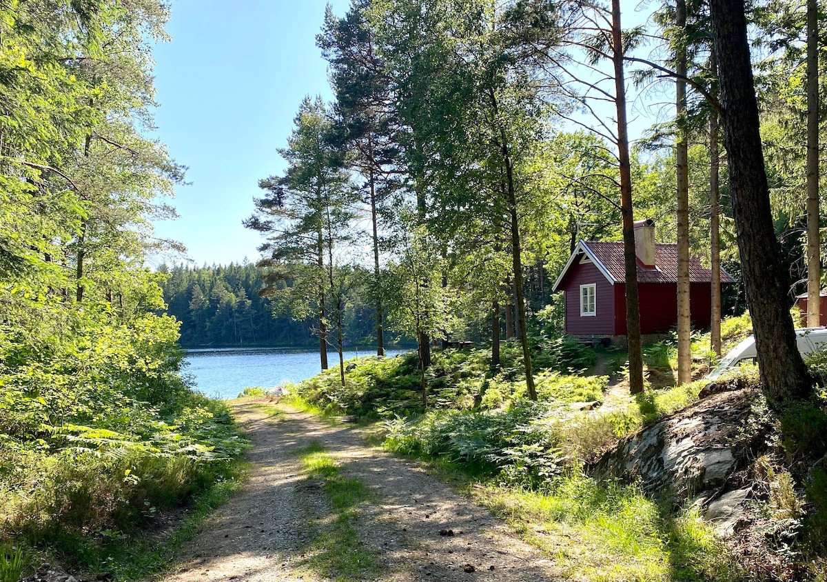
[[807,0],[807,326],[821,325],[818,2]]

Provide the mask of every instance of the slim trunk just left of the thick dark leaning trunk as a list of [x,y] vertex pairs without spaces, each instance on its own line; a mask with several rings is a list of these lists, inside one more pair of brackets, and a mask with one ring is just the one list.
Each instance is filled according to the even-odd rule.
[[[718,76],[715,53],[710,57],[710,69],[713,77]],[[721,244],[720,244],[720,156],[718,149],[718,111],[713,108],[710,114],[710,255],[712,270],[712,320],[710,321],[710,343],[715,354],[721,354]]]

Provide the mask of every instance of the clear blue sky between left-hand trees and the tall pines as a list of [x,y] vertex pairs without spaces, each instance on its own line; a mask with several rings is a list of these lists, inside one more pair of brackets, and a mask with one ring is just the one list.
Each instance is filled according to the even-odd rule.
[[[348,0],[333,0],[347,12]],[[315,44],[325,0],[174,0],[156,46],[157,135],[189,166],[172,203],[180,218],[155,224],[195,264],[256,261],[258,233],[241,226],[258,180],[284,169],[284,147],[305,94],[331,99]],[[168,262],[175,257],[167,257]],[[180,258],[177,259],[180,262]]]

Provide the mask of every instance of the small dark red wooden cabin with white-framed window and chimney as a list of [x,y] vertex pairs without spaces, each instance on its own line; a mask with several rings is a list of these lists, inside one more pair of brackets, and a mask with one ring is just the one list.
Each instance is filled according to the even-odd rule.
[[[677,325],[677,245],[656,244],[654,222],[635,224],[641,334],[662,334]],[[692,325],[709,327],[712,272],[698,257],[690,262]],[[734,283],[720,271],[721,283]],[[626,335],[626,285],[622,242],[581,241],[554,283],[564,291],[566,334],[581,337]],[[619,338],[618,338],[619,339]]]

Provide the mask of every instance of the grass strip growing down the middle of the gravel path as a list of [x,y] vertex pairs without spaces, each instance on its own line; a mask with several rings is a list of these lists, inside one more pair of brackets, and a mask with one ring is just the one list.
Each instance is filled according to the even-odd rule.
[[375,551],[356,534],[359,506],[370,496],[356,479],[348,479],[323,445],[314,441],[299,452],[310,479],[323,483],[331,515],[311,524],[311,551],[301,565],[331,580],[374,580],[382,570]]

